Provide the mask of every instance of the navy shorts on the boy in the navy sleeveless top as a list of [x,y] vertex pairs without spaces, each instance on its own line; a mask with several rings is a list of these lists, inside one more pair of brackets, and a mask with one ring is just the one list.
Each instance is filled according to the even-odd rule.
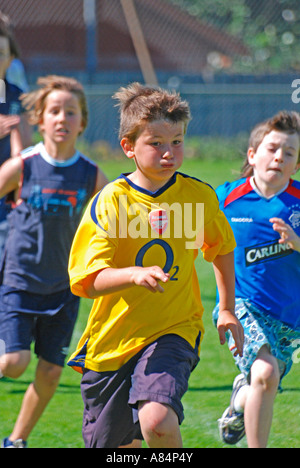
[[5,353],[27,351],[64,366],[79,308],[69,290],[51,296],[0,288],[0,342]]

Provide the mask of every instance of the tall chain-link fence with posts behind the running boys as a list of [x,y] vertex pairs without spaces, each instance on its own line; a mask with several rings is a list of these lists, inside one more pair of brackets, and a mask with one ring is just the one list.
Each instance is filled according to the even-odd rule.
[[83,83],[89,142],[118,145],[111,96],[135,80],[190,102],[190,136],[248,133],[300,109],[299,0],[0,0],[0,10],[30,87],[46,74]]

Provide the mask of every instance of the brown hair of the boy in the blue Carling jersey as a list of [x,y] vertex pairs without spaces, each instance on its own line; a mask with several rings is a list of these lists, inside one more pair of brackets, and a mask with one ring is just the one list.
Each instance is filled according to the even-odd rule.
[[[281,111],[265,122],[259,123],[250,134],[248,148],[253,148],[256,152],[264,137],[273,130],[289,134],[297,133],[300,140],[300,115],[297,112]],[[298,160],[300,161],[300,151]],[[241,177],[251,177],[252,175],[253,167],[250,166],[248,158],[246,158]]]

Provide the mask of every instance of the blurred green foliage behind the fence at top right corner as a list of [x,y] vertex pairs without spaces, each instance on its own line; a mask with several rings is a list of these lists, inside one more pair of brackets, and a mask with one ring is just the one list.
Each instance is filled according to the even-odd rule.
[[[300,70],[299,0],[168,0],[240,38],[250,50],[236,57],[233,72]],[[217,66],[217,65],[216,65]]]

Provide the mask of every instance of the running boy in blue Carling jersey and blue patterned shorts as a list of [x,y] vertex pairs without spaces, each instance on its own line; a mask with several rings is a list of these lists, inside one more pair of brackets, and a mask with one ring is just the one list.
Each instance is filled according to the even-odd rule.
[[243,357],[235,357],[242,374],[219,421],[229,444],[246,432],[249,447],[266,447],[300,340],[300,183],[291,179],[299,150],[299,115],[280,112],[253,130],[243,177],[217,189],[237,242],[236,315],[245,332]]

